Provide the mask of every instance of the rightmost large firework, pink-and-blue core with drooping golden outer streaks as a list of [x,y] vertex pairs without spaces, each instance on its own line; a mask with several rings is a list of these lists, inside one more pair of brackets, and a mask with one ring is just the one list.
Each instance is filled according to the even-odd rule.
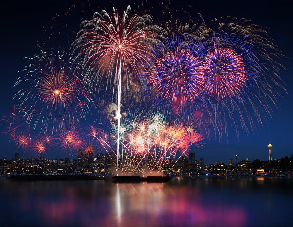
[[227,125],[234,127],[237,137],[240,128],[249,134],[255,131],[255,122],[262,125],[262,118],[270,116],[271,103],[277,107],[280,93],[272,84],[285,90],[279,76],[283,67],[274,60],[280,51],[265,28],[230,17],[215,20],[213,27],[202,24],[188,36],[205,78],[197,110],[207,137],[226,135],[228,140]]

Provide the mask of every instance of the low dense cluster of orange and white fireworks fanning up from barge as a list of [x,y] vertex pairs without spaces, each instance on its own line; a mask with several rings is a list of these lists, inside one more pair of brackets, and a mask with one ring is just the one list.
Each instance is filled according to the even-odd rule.
[[[160,171],[167,164],[175,164],[178,155],[187,156],[192,144],[202,146],[203,137],[195,132],[192,124],[186,127],[183,123],[168,123],[161,114],[129,115],[122,121],[120,131],[122,152],[118,163],[122,172]],[[113,124],[113,127],[116,131],[117,126]]]

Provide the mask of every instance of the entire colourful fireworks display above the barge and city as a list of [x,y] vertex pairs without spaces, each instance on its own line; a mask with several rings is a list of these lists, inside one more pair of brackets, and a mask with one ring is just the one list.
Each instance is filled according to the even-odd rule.
[[265,28],[230,17],[191,24],[187,14],[184,25],[170,9],[154,18],[144,7],[91,13],[79,31],[69,24],[76,34],[70,54],[28,58],[15,110],[1,120],[18,149],[34,156],[97,151],[122,173],[161,171],[204,137],[228,137],[227,125],[237,136],[254,131],[278,107],[284,67]]

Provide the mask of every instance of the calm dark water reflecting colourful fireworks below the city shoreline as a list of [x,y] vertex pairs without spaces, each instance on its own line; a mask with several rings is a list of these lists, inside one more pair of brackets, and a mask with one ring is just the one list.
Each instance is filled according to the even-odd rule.
[[292,178],[167,183],[0,178],[0,226],[293,226]]

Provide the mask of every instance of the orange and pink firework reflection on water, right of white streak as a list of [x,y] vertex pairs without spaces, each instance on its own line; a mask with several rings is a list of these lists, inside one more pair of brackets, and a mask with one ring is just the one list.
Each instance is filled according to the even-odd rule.
[[240,205],[205,204],[202,194],[187,185],[117,184],[117,188],[122,199],[116,206],[122,216],[135,214],[122,226],[246,226],[246,211]]

